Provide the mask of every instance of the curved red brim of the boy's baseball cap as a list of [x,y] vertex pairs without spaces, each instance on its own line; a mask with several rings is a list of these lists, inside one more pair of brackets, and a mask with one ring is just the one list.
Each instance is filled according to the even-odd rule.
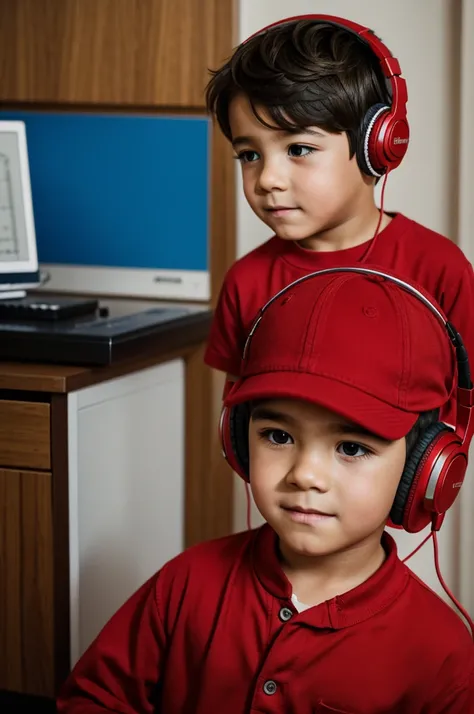
[[419,414],[382,402],[342,382],[303,372],[266,372],[236,382],[226,406],[257,399],[302,399],[330,409],[376,436],[395,441],[406,436]]

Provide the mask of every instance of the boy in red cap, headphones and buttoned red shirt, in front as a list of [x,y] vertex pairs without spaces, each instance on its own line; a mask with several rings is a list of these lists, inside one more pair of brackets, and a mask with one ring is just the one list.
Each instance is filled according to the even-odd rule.
[[[389,516],[438,527],[454,500],[468,367],[423,291],[358,270],[282,291],[247,341],[223,444],[266,524],[164,565],[79,661],[60,714],[474,712],[472,639],[385,531]],[[448,333],[456,433],[437,422],[456,389]]]

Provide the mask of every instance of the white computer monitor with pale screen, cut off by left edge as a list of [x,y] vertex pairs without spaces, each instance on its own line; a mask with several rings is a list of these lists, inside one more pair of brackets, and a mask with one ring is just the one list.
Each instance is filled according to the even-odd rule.
[[0,299],[39,284],[25,124],[0,121]]

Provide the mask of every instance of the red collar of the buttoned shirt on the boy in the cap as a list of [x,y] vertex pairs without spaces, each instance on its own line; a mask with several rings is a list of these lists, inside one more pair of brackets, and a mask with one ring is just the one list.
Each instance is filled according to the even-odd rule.
[[[368,580],[300,613],[300,621],[312,627],[339,630],[367,620],[396,600],[408,584],[409,571],[387,532],[382,536],[382,545],[387,558]],[[291,602],[291,584],[278,559],[278,537],[268,524],[257,531],[252,560],[255,575],[265,590],[278,600]]]

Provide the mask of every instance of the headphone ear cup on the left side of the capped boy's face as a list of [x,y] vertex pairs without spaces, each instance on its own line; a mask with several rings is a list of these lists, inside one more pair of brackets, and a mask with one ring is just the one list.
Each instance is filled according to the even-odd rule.
[[244,481],[249,480],[249,404],[238,404],[222,416],[221,440],[230,467]]

